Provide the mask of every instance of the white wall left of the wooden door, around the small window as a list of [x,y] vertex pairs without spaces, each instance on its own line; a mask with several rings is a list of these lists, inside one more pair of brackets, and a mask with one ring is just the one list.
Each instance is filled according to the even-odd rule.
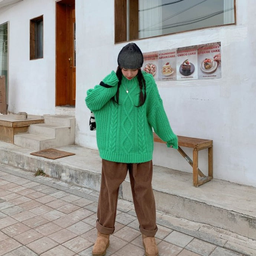
[[[29,20],[43,15],[43,59],[29,60]],[[24,0],[0,10],[9,21],[8,110],[55,113],[55,1]]]

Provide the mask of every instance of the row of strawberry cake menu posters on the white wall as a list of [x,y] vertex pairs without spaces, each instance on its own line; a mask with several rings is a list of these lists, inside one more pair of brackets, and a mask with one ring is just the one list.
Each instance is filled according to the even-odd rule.
[[221,44],[207,43],[143,53],[143,70],[155,81],[221,78]]

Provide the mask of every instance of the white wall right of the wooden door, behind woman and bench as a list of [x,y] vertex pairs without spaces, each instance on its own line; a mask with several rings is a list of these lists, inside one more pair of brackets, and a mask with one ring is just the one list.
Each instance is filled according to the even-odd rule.
[[[142,52],[221,42],[221,79],[157,82],[171,126],[178,135],[209,138],[214,177],[256,186],[256,25],[254,0],[236,0],[237,25],[136,40]],[[117,67],[126,43],[114,44],[114,1],[76,0],[76,143],[96,148],[89,131],[86,91]],[[184,148],[192,157],[191,151]],[[205,170],[207,152],[199,166]],[[155,144],[154,164],[191,172],[173,149]]]

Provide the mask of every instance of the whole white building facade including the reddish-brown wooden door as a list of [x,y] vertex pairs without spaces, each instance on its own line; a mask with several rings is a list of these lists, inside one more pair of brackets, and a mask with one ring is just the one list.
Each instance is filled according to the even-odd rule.
[[[214,178],[256,187],[255,1],[236,0],[235,10],[235,24],[133,42],[142,52],[221,42],[221,78],[157,81],[157,85],[176,134],[213,140]],[[2,0],[0,25],[4,23],[8,23],[8,110],[44,115],[55,114],[56,107],[72,106],[76,144],[96,149],[85,97],[89,88],[116,70],[118,53],[127,44],[115,43],[115,1]],[[33,48],[34,25],[38,33],[43,31],[43,45],[35,43]],[[192,151],[187,152],[191,156]],[[207,152],[200,151],[199,156],[203,170]],[[192,171],[177,151],[164,144],[155,144],[153,162]]]

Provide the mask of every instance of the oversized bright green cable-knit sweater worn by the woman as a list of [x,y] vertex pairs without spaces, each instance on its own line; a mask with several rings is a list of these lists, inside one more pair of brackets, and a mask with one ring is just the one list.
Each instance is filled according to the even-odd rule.
[[[94,112],[96,138],[102,159],[119,163],[143,163],[152,160],[153,134],[167,142],[167,147],[178,148],[163,102],[152,75],[142,71],[146,81],[146,101],[139,105],[140,88],[137,76],[128,80],[122,77],[119,88],[119,105],[111,98],[116,94],[118,78],[112,71],[102,82],[87,91],[88,108]],[[128,93],[126,91],[129,91]]]

